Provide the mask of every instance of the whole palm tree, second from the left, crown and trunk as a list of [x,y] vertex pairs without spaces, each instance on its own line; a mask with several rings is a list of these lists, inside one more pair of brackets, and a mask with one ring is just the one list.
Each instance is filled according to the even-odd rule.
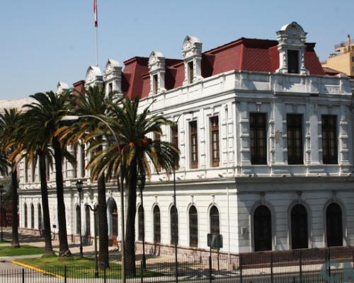
[[17,139],[21,141],[21,148],[14,152],[14,156],[21,156],[25,151],[25,166],[30,162],[39,162],[40,167],[40,192],[42,197],[42,215],[45,237],[45,255],[52,255],[52,238],[50,231],[50,212],[47,192],[47,163],[52,166],[52,149],[50,147],[50,135],[47,132],[46,120],[43,116],[35,116],[35,111],[30,110],[23,114],[18,127]]

